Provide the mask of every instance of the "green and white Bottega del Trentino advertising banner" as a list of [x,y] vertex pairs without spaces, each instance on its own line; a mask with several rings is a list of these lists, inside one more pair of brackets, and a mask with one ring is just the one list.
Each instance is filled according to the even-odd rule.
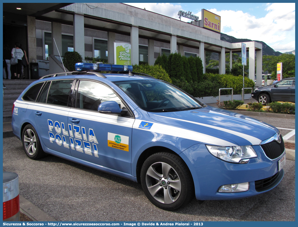
[[131,65],[131,45],[124,42],[114,42],[114,64]]

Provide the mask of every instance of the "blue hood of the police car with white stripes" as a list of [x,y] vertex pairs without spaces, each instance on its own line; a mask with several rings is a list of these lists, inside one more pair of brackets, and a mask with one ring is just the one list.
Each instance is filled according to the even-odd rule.
[[265,122],[211,106],[189,111],[148,114],[157,122],[200,133],[211,133],[215,137],[232,140],[239,146],[259,145],[278,132],[277,128]]

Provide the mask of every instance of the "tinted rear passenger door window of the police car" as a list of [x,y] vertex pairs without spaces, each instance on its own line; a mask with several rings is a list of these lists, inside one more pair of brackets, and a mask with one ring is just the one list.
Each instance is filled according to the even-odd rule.
[[52,81],[46,103],[67,106],[73,80]]

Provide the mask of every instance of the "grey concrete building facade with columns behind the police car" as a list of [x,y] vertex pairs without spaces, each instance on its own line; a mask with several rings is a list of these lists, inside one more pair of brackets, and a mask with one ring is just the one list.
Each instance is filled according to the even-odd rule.
[[[27,4],[37,9],[21,16],[27,19],[28,60],[39,63],[39,76],[63,72],[59,54],[66,51],[77,51],[83,59],[98,57],[114,64],[114,42],[131,44],[132,64],[142,61],[153,65],[159,55],[178,52],[199,56],[204,72],[205,52],[215,52],[219,54],[220,74],[225,74],[225,54],[230,53],[232,67],[232,53],[241,52],[241,43],[222,41],[219,32],[197,26],[199,23],[185,23],[122,3],[53,4],[44,10],[38,10],[35,3]],[[4,12],[9,12],[8,5],[13,4],[4,4]],[[7,24],[10,18],[8,13],[4,15]],[[249,78],[254,80],[256,75],[256,86],[260,86],[262,44],[246,42],[246,48]]]

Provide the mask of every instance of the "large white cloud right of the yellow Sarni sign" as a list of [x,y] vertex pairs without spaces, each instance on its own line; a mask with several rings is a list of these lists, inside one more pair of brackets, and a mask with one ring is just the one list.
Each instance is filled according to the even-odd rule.
[[[288,38],[292,34],[290,31],[295,31],[295,3],[268,4],[268,13],[263,18],[256,18],[242,11],[209,11],[221,16],[221,32],[235,38],[260,40],[274,45],[275,42]],[[229,32],[225,32],[225,28]],[[295,40],[295,37],[292,40]]]

